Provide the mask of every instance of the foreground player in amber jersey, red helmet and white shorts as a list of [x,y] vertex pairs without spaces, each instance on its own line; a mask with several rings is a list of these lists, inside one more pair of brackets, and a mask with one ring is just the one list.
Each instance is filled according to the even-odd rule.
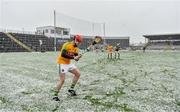
[[71,72],[72,74],[74,74],[73,81],[68,92],[72,96],[76,95],[74,87],[80,77],[80,71],[74,64],[71,63],[71,60],[74,59],[75,61],[78,61],[81,58],[82,55],[78,54],[78,45],[81,42],[82,42],[82,36],[75,35],[73,37],[73,41],[64,43],[60,50],[60,53],[57,59],[57,63],[59,66],[60,79],[57,82],[56,87],[52,90],[53,100],[55,101],[60,101],[58,98],[58,93],[62,85],[64,84],[65,74],[67,72]]

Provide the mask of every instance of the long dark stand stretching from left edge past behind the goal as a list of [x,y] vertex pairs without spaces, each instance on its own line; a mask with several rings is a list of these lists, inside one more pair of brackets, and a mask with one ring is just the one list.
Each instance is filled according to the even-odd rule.
[[[83,36],[83,43],[80,49],[86,49],[92,42],[93,36]],[[54,51],[56,40],[56,50],[59,51],[63,43],[71,41],[70,38],[52,38],[45,35],[24,34],[24,33],[4,33],[0,32],[0,52],[45,52]],[[129,37],[108,37],[105,38],[100,45],[103,44],[116,45],[120,43],[121,48],[129,47]]]

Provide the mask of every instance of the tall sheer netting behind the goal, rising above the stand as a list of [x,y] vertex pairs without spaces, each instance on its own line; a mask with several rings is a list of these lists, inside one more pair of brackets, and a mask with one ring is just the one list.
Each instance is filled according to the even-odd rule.
[[71,34],[103,36],[103,23],[97,23],[56,12],[56,26],[70,28]]

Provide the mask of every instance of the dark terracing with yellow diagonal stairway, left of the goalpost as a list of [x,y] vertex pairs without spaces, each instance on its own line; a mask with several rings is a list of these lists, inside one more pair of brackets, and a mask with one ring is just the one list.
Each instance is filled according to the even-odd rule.
[[32,51],[54,51],[54,38],[44,35],[0,32],[0,52],[28,52],[19,43],[25,44]]

